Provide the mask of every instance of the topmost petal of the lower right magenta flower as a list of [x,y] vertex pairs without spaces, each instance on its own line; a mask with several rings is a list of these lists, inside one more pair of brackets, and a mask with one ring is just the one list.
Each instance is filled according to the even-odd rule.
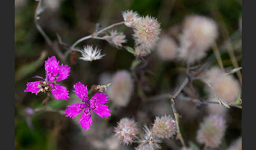
[[74,91],[76,95],[82,100],[82,102],[87,101],[88,99],[88,91],[87,91],[87,85],[84,86],[81,82],[78,82],[74,85]]

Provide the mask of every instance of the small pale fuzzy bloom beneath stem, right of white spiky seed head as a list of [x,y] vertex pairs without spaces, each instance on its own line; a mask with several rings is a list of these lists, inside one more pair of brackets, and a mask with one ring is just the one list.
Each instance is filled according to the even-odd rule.
[[117,33],[116,30],[111,30],[110,37],[106,40],[116,48],[121,48],[122,43],[126,42],[125,35],[123,33]]

